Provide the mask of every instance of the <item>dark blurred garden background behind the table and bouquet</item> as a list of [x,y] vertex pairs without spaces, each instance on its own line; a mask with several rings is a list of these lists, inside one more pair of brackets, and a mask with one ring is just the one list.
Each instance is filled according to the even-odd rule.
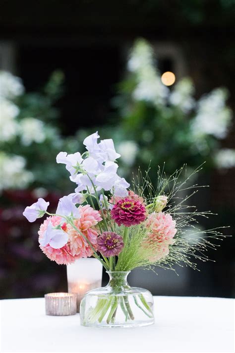
[[[171,173],[206,161],[198,182],[211,188],[193,203],[219,213],[202,226],[230,224],[232,235],[234,0],[13,2],[2,4],[0,19],[0,68],[7,41],[16,72],[0,72],[0,296],[67,290],[65,267],[38,247],[41,221],[29,224],[22,211],[38,197],[56,208],[73,191],[56,155],[82,151],[96,130],[116,142],[129,180],[149,160],[153,179],[158,164]],[[170,87],[161,81],[169,67],[160,42],[166,55],[172,43],[180,48],[187,67]],[[217,263],[199,265],[201,272],[152,279],[138,273],[133,284],[154,294],[233,296],[233,249],[228,238],[209,254]]]

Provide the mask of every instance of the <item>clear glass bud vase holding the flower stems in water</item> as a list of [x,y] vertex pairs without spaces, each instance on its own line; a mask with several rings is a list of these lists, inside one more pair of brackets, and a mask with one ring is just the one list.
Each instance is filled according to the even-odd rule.
[[90,290],[80,304],[81,325],[138,327],[154,323],[153,296],[149,290],[131,287],[128,272],[109,272],[106,287]]

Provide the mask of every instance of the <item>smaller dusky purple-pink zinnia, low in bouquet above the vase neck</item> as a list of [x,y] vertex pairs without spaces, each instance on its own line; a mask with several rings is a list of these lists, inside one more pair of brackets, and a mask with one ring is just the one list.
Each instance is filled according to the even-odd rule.
[[104,232],[97,239],[97,250],[104,256],[116,256],[124,247],[123,239],[114,232]]

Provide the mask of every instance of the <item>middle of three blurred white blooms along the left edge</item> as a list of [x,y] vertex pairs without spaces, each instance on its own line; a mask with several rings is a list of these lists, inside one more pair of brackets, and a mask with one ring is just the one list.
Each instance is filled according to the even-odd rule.
[[18,133],[18,123],[15,118],[19,109],[15,104],[0,97],[0,141],[9,141]]

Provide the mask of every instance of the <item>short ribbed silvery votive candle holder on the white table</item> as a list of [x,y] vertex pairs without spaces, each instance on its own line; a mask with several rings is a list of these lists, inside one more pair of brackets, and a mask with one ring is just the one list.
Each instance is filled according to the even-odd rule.
[[65,316],[77,312],[77,297],[73,293],[45,294],[46,315]]

